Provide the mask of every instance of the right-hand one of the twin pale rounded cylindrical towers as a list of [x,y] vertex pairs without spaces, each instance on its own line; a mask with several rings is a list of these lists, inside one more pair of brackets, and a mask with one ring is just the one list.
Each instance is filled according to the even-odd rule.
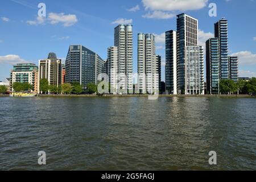
[[155,36],[138,34],[138,86],[140,93],[159,92],[159,56],[155,54]]

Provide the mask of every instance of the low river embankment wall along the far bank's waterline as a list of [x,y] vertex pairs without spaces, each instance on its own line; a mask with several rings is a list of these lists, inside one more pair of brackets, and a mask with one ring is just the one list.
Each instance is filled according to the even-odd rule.
[[[37,97],[148,97],[154,96],[149,94],[123,94],[123,95],[113,95],[113,94],[104,94],[101,96],[95,94],[38,94]],[[0,94],[0,97],[9,97],[9,94]],[[158,97],[229,97],[229,98],[242,98],[242,97],[249,97],[249,98],[256,98],[255,96],[249,94],[222,94],[222,95],[166,95],[166,94],[159,94]]]

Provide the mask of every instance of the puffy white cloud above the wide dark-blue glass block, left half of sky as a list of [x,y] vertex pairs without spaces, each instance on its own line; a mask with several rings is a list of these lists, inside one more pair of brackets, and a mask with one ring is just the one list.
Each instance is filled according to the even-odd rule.
[[76,15],[65,15],[64,13],[49,13],[48,20],[51,24],[63,23],[64,27],[72,26],[78,21]]

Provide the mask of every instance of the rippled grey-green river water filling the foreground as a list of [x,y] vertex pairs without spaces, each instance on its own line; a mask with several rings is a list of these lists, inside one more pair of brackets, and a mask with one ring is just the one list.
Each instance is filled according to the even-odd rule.
[[0,170],[256,170],[255,98],[5,97],[0,105]]

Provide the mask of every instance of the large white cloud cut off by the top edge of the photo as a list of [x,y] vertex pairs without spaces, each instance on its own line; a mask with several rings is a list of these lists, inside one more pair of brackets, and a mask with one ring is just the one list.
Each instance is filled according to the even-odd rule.
[[207,5],[208,0],[142,0],[145,9],[163,11],[199,10]]

